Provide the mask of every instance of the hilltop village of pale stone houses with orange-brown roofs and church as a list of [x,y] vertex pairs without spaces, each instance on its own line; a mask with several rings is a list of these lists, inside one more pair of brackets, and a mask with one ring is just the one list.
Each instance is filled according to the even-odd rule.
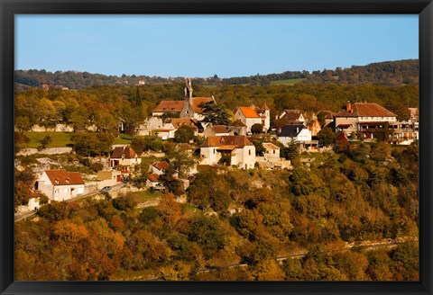
[[[184,91],[183,101],[161,101],[152,110],[152,115],[138,124],[136,135],[171,140],[178,130],[188,129],[193,131],[194,137],[201,138],[202,143],[195,145],[190,140],[189,143],[178,144],[180,155],[194,159],[182,171],[180,166],[174,167],[168,160],[149,163],[143,175],[145,187],[142,189],[163,192],[170,172],[170,177],[178,180],[182,189],[186,190],[194,181],[199,167],[204,165],[237,169],[291,169],[290,160],[281,156],[282,149],[289,147],[297,148],[298,152],[327,153],[333,152],[334,142],[338,146],[347,146],[350,141],[373,142],[382,139],[394,145],[410,145],[419,139],[419,115],[415,108],[409,110],[410,120],[398,121],[396,114],[377,103],[366,101],[347,101],[341,112],[322,110],[312,115],[302,110],[272,113],[263,103],[260,106],[239,105],[232,110],[232,122],[220,124],[209,120],[206,112],[209,105],[218,105],[216,97],[195,97],[189,78],[186,79]],[[278,126],[271,126],[272,118],[279,122]],[[121,122],[119,128],[122,128]],[[38,130],[41,129],[33,128],[33,131]],[[331,143],[322,130],[332,134]],[[260,152],[253,142],[255,139],[260,139]],[[69,153],[71,148],[64,148],[61,152]],[[95,175],[83,177],[78,172],[64,169],[39,171],[34,186],[29,188],[28,205],[21,206],[17,213],[37,210],[41,206],[42,195],[49,201],[68,201],[94,192],[110,191],[112,187],[140,177],[138,167],[147,156],[161,157],[164,153],[142,154],[130,145],[115,145],[109,158],[98,159],[103,168]]]

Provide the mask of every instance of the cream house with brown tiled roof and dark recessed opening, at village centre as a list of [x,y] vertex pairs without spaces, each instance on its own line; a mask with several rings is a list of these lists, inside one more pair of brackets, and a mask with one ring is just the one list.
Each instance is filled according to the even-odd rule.
[[200,147],[201,165],[217,165],[223,156],[241,169],[253,169],[255,147],[245,136],[209,136]]

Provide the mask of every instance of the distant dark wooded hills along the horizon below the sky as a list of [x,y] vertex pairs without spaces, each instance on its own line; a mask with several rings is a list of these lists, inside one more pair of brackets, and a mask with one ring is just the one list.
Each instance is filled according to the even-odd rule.
[[[280,81],[280,82],[279,82]],[[293,81],[291,83],[290,81]],[[67,87],[82,89],[102,85],[148,85],[183,83],[184,77],[161,76],[106,76],[77,71],[16,70],[15,90],[23,91],[29,87]],[[336,83],[336,84],[377,84],[407,85],[419,83],[419,60],[406,59],[373,63],[367,66],[337,67],[323,71],[286,71],[281,74],[239,76],[230,78],[194,77],[197,85],[293,85],[294,83]]]

